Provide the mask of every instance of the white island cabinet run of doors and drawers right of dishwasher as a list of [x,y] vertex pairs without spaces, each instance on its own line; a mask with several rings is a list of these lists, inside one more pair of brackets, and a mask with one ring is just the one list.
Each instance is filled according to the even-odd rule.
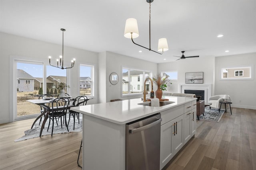
[[195,101],[162,111],[160,169],[189,141],[196,133]]

